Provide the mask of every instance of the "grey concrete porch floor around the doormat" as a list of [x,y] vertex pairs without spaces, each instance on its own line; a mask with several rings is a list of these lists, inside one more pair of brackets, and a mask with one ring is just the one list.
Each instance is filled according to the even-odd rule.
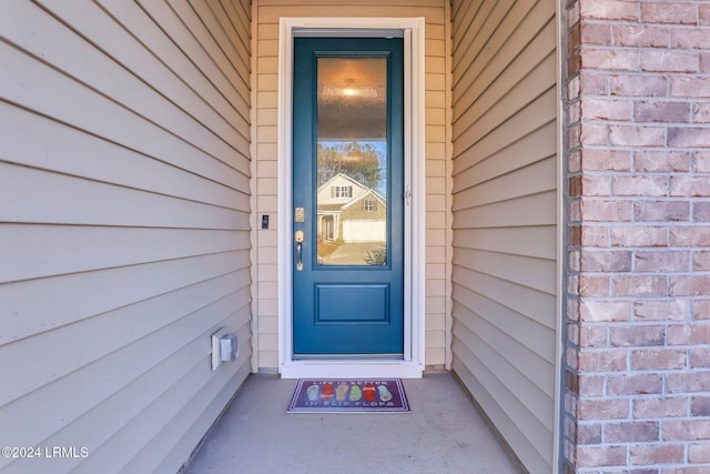
[[521,472],[452,374],[403,382],[410,413],[292,414],[296,381],[253,375],[183,472]]

